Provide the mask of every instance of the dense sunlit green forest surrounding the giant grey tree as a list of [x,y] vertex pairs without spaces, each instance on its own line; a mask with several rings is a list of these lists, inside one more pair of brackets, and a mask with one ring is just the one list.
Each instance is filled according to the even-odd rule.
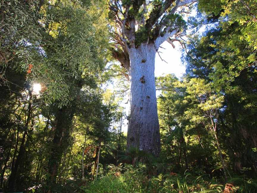
[[257,1],[180,10],[186,73],[156,77],[158,157],[126,150],[109,6],[1,1],[0,191],[257,192]]

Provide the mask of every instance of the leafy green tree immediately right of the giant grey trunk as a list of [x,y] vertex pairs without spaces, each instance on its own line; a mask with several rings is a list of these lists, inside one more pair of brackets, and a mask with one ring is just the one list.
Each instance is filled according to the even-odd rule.
[[181,164],[181,154],[183,153],[185,166],[188,169],[187,144],[184,137],[186,134],[185,126],[189,122],[184,116],[184,111],[188,108],[188,104],[184,102],[187,93],[185,92],[186,89],[180,85],[178,78],[174,74],[157,78],[156,87],[162,91],[162,94],[157,99],[158,114],[161,132],[167,136],[165,144],[171,144],[173,139],[178,142],[177,164]]

